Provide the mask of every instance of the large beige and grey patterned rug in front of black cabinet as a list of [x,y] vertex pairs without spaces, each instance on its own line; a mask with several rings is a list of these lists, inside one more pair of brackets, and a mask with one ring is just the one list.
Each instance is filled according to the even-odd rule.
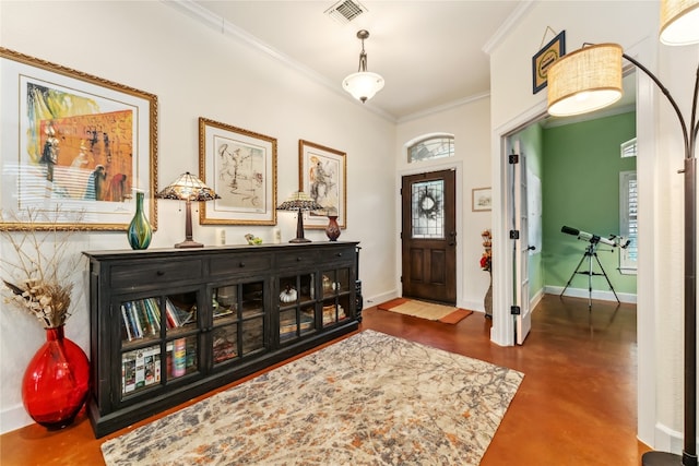
[[523,377],[364,331],[102,451],[108,466],[477,465]]

